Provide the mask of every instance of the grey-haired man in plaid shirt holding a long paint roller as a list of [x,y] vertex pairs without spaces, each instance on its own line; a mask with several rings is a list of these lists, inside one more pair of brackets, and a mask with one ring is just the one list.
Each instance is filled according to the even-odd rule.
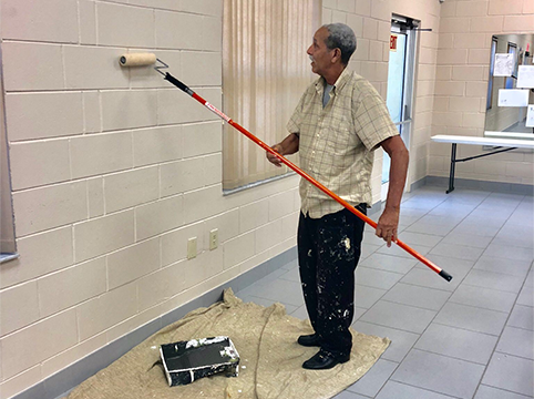
[[[373,151],[391,157],[386,207],[376,235],[397,241],[408,151],[374,88],[347,69],[356,50],[352,30],[342,23],[321,27],[308,49],[320,78],[304,93],[288,122],[290,134],[273,146],[281,155],[300,152],[301,168],[360,212],[372,204]],[[280,160],[267,158],[281,166]],[[329,369],[349,360],[352,337],[355,270],[364,223],[306,180],[300,182],[298,260],[306,308],[315,334],[304,346],[320,347],[302,367]]]

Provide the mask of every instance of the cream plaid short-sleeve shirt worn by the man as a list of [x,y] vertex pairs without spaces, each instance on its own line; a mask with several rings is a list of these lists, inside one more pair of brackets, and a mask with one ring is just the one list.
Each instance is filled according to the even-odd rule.
[[[300,167],[352,205],[371,204],[373,152],[398,135],[377,90],[347,69],[336,81],[322,108],[324,78],[302,94],[287,129],[299,134]],[[302,178],[301,211],[319,218],[342,205]]]

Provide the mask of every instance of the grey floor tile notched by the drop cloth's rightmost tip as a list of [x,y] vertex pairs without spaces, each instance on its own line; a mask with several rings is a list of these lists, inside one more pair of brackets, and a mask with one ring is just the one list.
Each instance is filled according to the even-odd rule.
[[358,320],[352,324],[352,328],[359,332],[373,335],[377,337],[388,337],[391,344],[382,355],[382,359],[400,362],[408,355],[420,335],[414,332],[401,331],[399,329],[378,326],[374,324]]

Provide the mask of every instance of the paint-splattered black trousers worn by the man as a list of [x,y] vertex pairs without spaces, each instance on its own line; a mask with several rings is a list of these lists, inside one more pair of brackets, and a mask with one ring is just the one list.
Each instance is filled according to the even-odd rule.
[[[367,213],[364,204],[358,211]],[[306,309],[321,349],[348,355],[355,314],[355,270],[364,222],[348,209],[310,218],[300,213],[298,262]]]

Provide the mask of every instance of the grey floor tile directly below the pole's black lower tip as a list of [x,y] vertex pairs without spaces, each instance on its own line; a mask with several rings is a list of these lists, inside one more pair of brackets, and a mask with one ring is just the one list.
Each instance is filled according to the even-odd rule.
[[512,311],[517,295],[491,288],[461,284],[449,299],[450,303],[463,304],[483,309]]

